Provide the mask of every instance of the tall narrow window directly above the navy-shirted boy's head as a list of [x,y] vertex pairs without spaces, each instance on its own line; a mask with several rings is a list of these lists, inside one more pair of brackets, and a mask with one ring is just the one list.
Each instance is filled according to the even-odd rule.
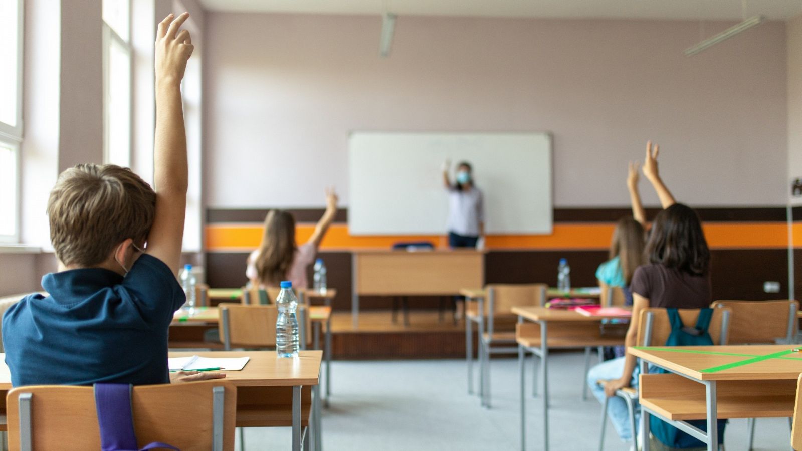
[[103,0],[103,161],[131,165],[131,2]]

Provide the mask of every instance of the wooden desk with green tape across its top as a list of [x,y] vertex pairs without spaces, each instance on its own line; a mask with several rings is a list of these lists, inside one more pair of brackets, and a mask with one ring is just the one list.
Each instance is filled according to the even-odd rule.
[[[719,449],[718,422],[726,418],[793,416],[802,373],[798,345],[630,347],[627,351],[670,374],[641,374],[642,425],[658,416]],[[707,433],[688,420],[707,419]],[[643,450],[649,451],[648,442]]]

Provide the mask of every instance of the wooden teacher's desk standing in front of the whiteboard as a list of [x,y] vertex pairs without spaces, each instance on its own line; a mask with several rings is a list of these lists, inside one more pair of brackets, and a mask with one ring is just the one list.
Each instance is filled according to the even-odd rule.
[[359,296],[447,296],[484,286],[479,250],[354,250],[351,312],[359,323]]

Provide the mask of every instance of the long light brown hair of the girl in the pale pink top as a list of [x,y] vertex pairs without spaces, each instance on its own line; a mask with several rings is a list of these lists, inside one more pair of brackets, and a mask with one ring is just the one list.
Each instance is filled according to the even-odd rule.
[[295,258],[295,218],[284,210],[270,210],[256,259],[259,282],[277,286],[287,277]]

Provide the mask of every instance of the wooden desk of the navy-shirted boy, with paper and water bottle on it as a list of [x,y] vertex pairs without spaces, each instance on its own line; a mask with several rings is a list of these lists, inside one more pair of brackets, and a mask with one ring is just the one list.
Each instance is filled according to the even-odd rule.
[[[237,427],[291,426],[292,449],[300,451],[302,428],[310,426],[306,437],[311,441],[314,436],[314,446],[320,449],[318,383],[322,351],[301,351],[297,359],[278,359],[274,351],[170,352],[169,356],[195,354],[211,358],[250,357],[242,371],[225,372],[225,380],[237,386]],[[0,354],[2,400],[6,399],[11,389],[11,375],[5,357],[5,354]],[[3,415],[5,408],[3,402]]]

